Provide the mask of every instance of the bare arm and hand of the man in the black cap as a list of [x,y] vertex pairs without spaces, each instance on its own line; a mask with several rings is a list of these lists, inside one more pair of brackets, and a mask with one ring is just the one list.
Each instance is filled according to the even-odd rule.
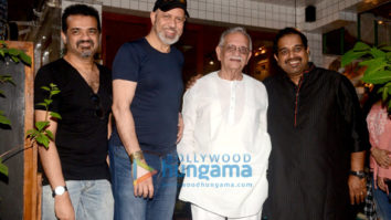
[[[131,115],[130,104],[135,96],[137,83],[126,80],[113,81],[113,115],[117,126],[118,135],[124,144],[127,154],[130,155],[139,151],[140,146],[136,135],[135,121]],[[145,163],[145,159],[141,160]],[[133,171],[133,170],[131,170]],[[137,166],[137,178],[146,175],[148,170]],[[129,182],[133,184],[133,182]],[[152,178],[148,177],[144,181],[138,182],[134,187],[134,193],[136,197],[154,197]]]

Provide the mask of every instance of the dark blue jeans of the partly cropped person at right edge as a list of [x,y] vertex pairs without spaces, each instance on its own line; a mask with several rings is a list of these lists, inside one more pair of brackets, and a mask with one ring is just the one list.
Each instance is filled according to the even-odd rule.
[[373,200],[376,203],[376,213],[380,220],[390,220],[391,219],[391,189],[390,195],[387,195],[385,191],[374,188],[374,181],[372,178],[372,189],[373,189]]

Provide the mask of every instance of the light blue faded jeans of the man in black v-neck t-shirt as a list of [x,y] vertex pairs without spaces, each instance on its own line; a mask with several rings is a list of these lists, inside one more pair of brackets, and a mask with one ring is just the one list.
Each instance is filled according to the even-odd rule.
[[[114,200],[110,182],[99,180],[65,181],[76,219],[112,220]],[[42,220],[56,220],[54,198],[49,185],[42,187]]]

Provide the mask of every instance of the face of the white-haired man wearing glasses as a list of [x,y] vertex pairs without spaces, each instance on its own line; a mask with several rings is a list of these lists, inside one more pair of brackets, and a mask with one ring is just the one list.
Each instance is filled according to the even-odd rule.
[[251,57],[249,43],[249,39],[240,32],[225,35],[224,45],[215,48],[221,69],[242,71]]

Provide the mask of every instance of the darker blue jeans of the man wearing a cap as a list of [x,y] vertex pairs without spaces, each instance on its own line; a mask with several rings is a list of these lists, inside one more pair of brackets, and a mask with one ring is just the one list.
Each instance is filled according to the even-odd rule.
[[154,198],[135,197],[134,178],[129,156],[124,146],[109,142],[109,157],[115,220],[171,220],[177,195],[178,156],[172,151],[165,156],[144,153],[152,176]]

